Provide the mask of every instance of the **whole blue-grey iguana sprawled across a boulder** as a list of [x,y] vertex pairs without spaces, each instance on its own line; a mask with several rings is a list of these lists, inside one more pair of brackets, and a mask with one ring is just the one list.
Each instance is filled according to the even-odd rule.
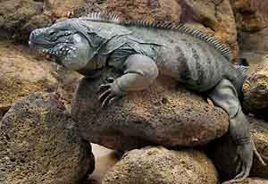
[[105,67],[120,72],[121,77],[98,88],[102,107],[128,91],[147,88],[158,73],[206,92],[230,117],[239,171],[232,181],[249,175],[255,146],[239,104],[243,76],[229,62],[230,49],[216,38],[183,24],[125,21],[112,13],[91,13],[32,31],[29,46],[88,77],[98,77]]

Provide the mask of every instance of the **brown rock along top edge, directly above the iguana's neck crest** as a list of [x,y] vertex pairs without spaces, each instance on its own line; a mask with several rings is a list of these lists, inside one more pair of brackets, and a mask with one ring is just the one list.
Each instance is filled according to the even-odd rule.
[[74,11],[74,16],[82,16],[91,12],[106,11],[116,13],[129,20],[143,21],[180,21],[180,5],[176,0],[93,0],[86,2]]

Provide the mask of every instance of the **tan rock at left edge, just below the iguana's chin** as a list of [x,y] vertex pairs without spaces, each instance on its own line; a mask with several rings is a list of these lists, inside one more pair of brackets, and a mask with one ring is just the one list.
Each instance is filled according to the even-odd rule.
[[51,66],[39,62],[21,46],[1,42],[0,63],[0,116],[21,97],[53,91],[57,84]]

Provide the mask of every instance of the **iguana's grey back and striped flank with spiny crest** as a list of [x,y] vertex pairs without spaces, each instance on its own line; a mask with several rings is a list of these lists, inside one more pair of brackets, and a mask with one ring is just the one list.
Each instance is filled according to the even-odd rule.
[[130,45],[138,54],[154,59],[163,74],[178,79],[188,88],[206,91],[221,79],[229,79],[240,91],[243,78],[229,62],[230,49],[197,29],[171,23],[127,22],[102,14],[91,14],[80,20],[99,28],[101,37],[109,35],[108,47]]

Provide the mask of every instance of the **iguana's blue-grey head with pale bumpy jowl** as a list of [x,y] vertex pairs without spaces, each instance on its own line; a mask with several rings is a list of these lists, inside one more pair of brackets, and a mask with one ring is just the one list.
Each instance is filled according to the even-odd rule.
[[57,22],[51,27],[35,29],[29,36],[29,46],[48,54],[58,64],[78,71],[88,63],[87,38],[76,29],[75,20]]

